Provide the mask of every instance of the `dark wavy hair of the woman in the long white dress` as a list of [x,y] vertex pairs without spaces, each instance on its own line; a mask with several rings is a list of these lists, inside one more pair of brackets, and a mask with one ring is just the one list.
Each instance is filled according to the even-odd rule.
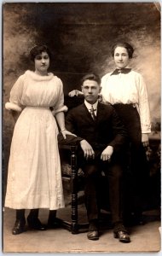
[[35,57],[42,54],[42,52],[47,52],[47,54],[49,55],[49,59],[51,59],[51,52],[45,44],[37,44],[33,46],[29,52],[30,59],[34,61]]

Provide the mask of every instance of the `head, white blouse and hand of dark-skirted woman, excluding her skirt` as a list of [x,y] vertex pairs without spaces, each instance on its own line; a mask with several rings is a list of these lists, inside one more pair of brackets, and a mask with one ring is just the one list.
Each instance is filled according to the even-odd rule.
[[133,51],[127,43],[113,46],[112,54],[117,69],[102,77],[101,95],[103,102],[113,105],[133,104],[132,107],[136,108],[140,117],[142,143],[148,146],[148,133],[151,132],[148,92],[142,75],[128,68]]

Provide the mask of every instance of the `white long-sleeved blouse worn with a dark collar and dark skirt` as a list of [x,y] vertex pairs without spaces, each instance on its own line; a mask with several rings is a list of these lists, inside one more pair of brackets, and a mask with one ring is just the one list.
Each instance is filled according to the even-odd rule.
[[147,86],[140,73],[107,73],[101,78],[101,95],[103,102],[111,104],[136,104],[140,115],[142,133],[151,132],[150,111]]

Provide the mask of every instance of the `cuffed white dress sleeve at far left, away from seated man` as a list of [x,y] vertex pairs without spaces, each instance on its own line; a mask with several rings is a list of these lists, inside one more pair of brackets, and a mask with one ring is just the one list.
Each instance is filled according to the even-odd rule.
[[10,91],[9,102],[6,102],[5,104],[6,109],[18,112],[22,110],[20,101],[23,91],[23,84],[23,76],[20,76]]

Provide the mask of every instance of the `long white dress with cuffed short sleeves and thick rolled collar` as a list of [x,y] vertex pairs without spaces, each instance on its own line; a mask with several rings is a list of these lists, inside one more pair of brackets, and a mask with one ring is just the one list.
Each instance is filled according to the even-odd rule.
[[[24,108],[25,107],[25,108]],[[6,108],[20,111],[12,138],[5,207],[64,207],[55,113],[66,110],[61,79],[27,70],[15,82]]]

